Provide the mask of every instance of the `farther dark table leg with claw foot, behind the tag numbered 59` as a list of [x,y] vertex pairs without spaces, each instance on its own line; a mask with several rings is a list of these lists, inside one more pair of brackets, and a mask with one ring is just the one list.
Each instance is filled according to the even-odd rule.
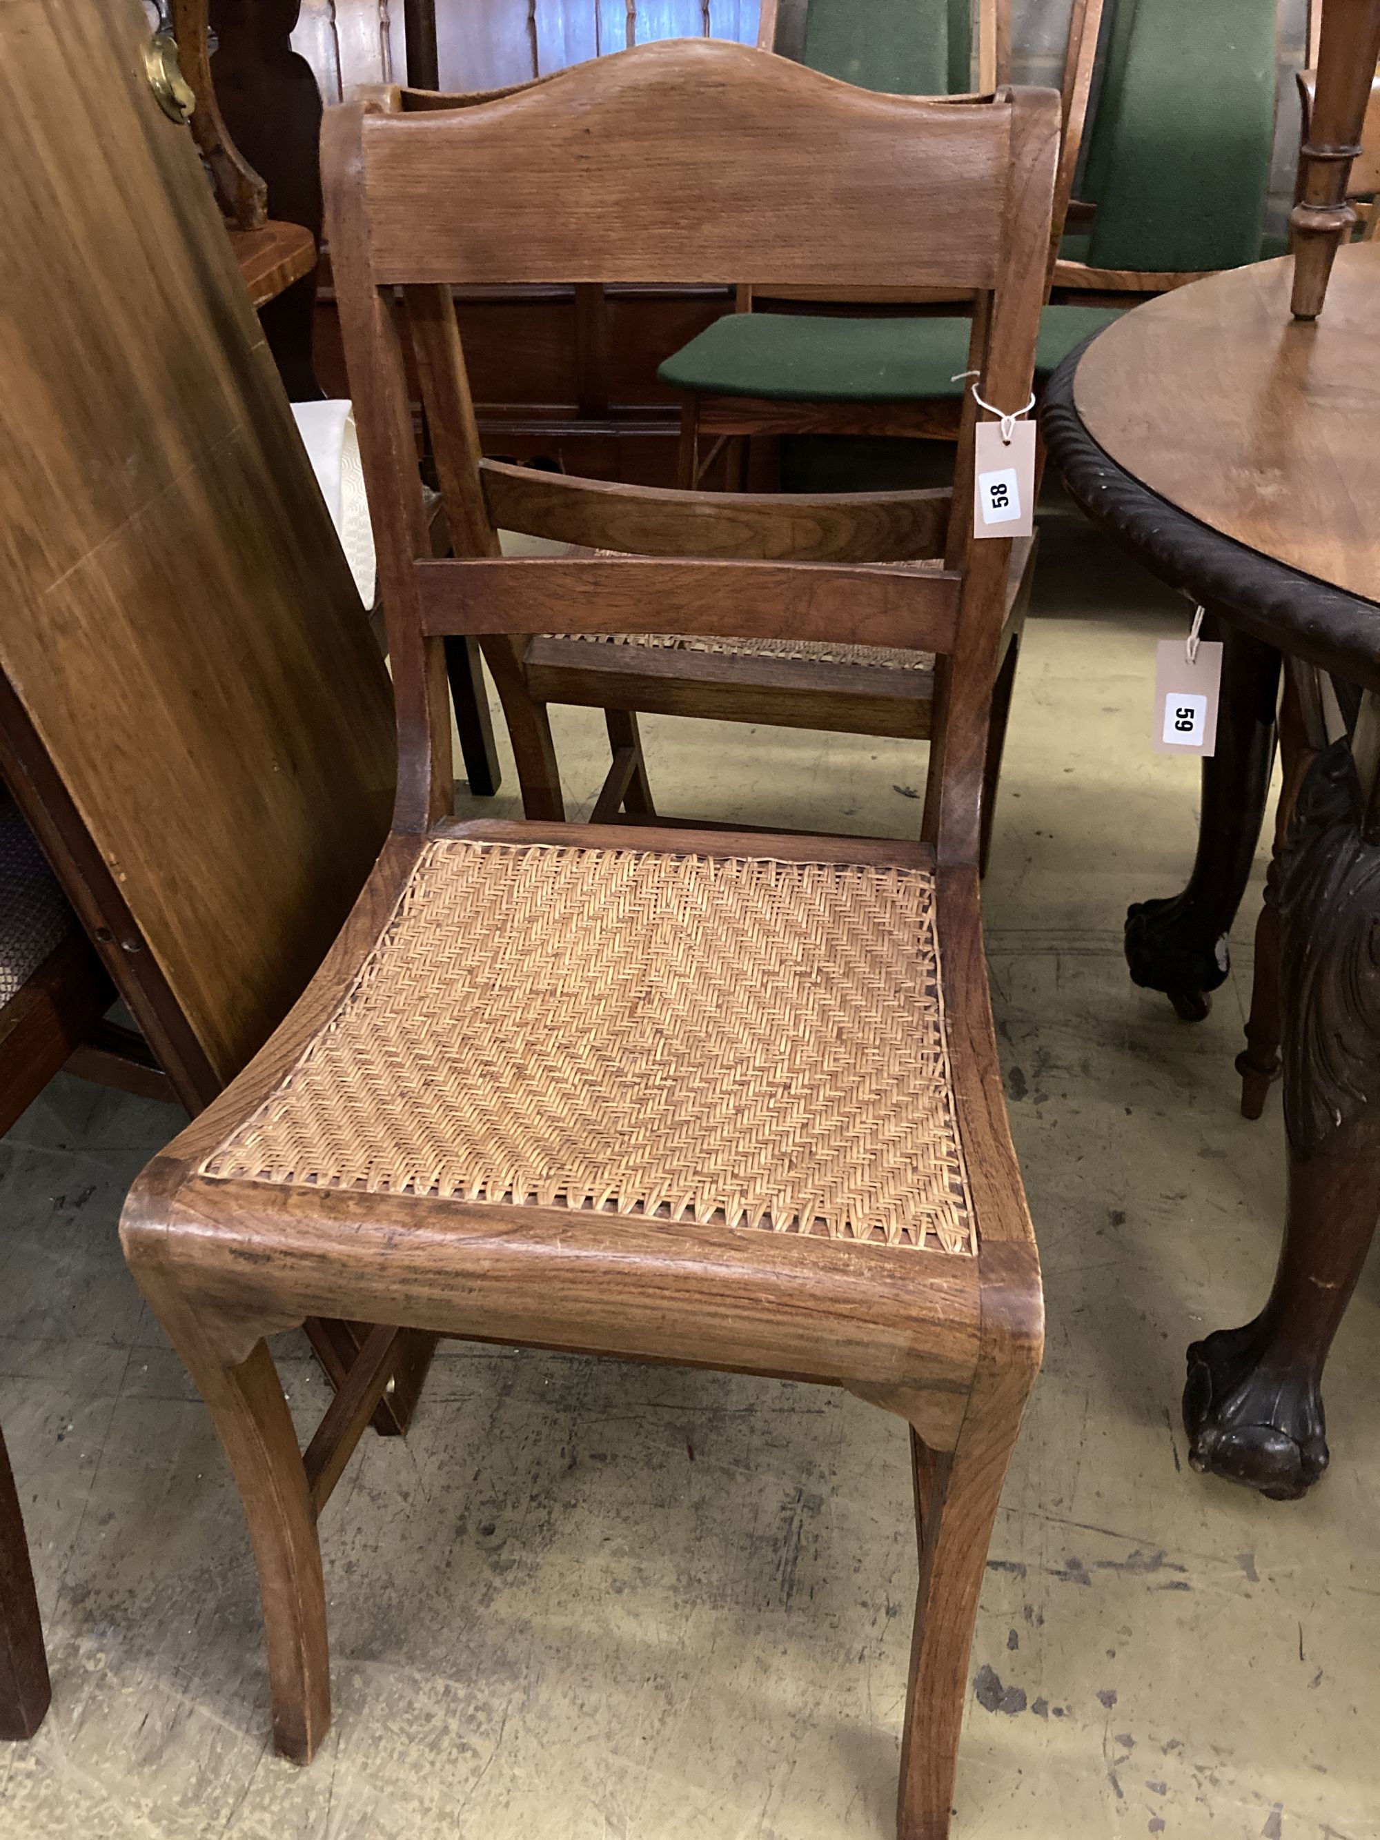
[[1137,902],[1126,914],[1132,983],[1163,990],[1185,1021],[1202,1021],[1209,992],[1231,970],[1227,933],[1260,839],[1275,754],[1279,653],[1222,627],[1211,615],[1205,638],[1222,638],[1216,754],[1203,760],[1198,856],[1181,894]]

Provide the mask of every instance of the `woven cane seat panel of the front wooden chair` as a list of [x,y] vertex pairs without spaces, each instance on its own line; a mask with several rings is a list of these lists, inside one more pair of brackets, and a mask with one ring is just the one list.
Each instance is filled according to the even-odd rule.
[[432,839],[226,1181],[973,1253],[929,868]]

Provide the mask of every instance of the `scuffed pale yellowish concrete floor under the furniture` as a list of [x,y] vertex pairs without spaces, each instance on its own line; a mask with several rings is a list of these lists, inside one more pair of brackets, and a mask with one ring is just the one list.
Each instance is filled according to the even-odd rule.
[[[1192,845],[1196,769],[1146,740],[1154,640],[1183,626],[1047,521],[986,914],[1049,1352],[983,1593],[960,1840],[1380,1834],[1376,1268],[1308,1501],[1194,1476],[1178,1420],[1189,1338],[1264,1294],[1282,1170],[1277,1100],[1236,1115],[1249,953],[1202,1027],[1121,960],[1128,900],[1172,892]],[[668,810],[918,822],[909,743],[646,730]],[[563,712],[558,740],[589,802],[598,716]],[[331,1501],[335,1726],[311,1770],[274,1759],[239,1509],[116,1242],[175,1124],[59,1078],[0,1146],[0,1417],[53,1671],[44,1730],[0,1755],[0,1840],[891,1831],[900,1424],[804,1386],[456,1343],[407,1443],[366,1435]],[[298,1336],[280,1358],[305,1430],[324,1382]]]

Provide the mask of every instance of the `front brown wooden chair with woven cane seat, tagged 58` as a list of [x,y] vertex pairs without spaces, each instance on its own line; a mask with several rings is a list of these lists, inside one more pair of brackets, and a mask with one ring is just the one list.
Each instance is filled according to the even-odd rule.
[[[821,140],[846,180],[806,197]],[[949,1829],[986,1546],[1041,1345],[977,907],[1008,543],[972,537],[975,410],[951,499],[868,513],[874,552],[931,567],[859,565],[861,521],[828,508],[797,561],[789,506],[710,513],[480,469],[451,285],[732,274],[758,254],[800,285],[957,285],[975,291],[983,394],[1023,401],[1056,158],[1051,92],[880,99],[718,42],[445,114],[328,114],[392,627],[394,832],[302,1003],[149,1165],[121,1225],[241,1489],[291,1757],[329,1720],[316,1520],[386,1340],[304,1455],[263,1338],[331,1314],[793,1374],[903,1417],[922,1571],[900,1833]],[[403,333],[464,534],[451,559],[429,559]],[[708,530],[710,559],[500,559],[493,517],[519,512],[532,534],[578,515],[620,552],[692,552],[664,541],[679,523]],[[942,655],[926,841],[456,822],[442,635],[563,622]]]

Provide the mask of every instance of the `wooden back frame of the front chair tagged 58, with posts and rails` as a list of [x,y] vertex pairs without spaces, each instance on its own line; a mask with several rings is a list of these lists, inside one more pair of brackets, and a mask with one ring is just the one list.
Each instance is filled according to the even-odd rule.
[[[1054,92],[935,103],[854,90],[721,42],[664,42],[449,114],[328,114],[324,166],[346,355],[375,519],[399,718],[396,828],[449,808],[442,633],[679,631],[913,646],[946,653],[931,747],[927,828],[940,854],[977,859],[986,705],[1010,543],[972,539],[975,410],[966,399],[942,543],[944,567],[846,561],[504,561],[480,469],[451,285],[845,276],[973,291],[983,396],[1019,408],[1045,289],[1060,107]],[[804,164],[821,182],[800,188]],[[394,289],[403,289],[401,315]],[[432,561],[407,408],[403,335],[456,548]],[[546,495],[548,510],[539,510]],[[578,488],[598,548],[703,515],[703,495]],[[914,497],[914,495],[887,495]],[[569,482],[532,475],[526,523],[572,515]],[[874,502],[874,500],[863,500]],[[670,506],[683,510],[672,513]],[[749,500],[751,504],[751,500]],[[637,506],[637,512],[633,510]],[[894,504],[876,513],[896,517]],[[743,515],[734,506],[732,515]],[[756,513],[745,513],[749,521]],[[778,513],[782,515],[782,513]],[[914,519],[909,506],[903,513]],[[762,541],[764,524],[745,541]],[[896,532],[881,554],[894,556]],[[712,550],[714,554],[714,550]],[[723,556],[723,548],[718,548]]]

